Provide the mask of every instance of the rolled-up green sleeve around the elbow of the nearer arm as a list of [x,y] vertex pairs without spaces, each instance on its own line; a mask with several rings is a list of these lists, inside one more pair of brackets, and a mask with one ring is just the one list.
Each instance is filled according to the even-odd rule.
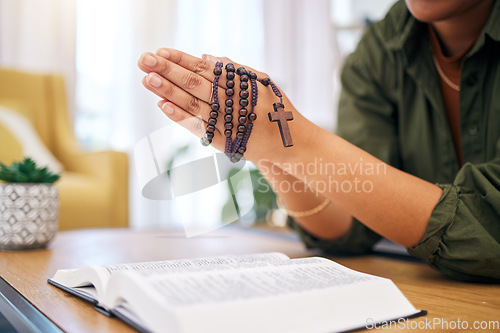
[[408,252],[454,279],[500,281],[500,158],[467,163],[440,186],[425,235]]

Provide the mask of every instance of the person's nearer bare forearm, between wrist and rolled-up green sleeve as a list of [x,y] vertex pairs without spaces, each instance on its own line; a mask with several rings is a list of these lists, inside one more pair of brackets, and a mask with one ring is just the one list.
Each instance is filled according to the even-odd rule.
[[[366,226],[404,246],[422,238],[441,189],[391,167],[304,118],[295,146],[270,160]],[[292,122],[293,123],[293,122]]]

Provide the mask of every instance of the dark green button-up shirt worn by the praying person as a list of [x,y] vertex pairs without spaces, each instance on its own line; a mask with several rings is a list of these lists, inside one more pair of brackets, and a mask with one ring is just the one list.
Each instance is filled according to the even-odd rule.
[[[500,1],[495,2],[483,32],[463,61],[460,122],[466,163],[462,168],[427,26],[411,16],[404,1],[368,28],[347,58],[341,77],[338,134],[443,189],[422,241],[408,251],[460,280],[500,281],[498,22]],[[331,253],[367,252],[380,239],[358,221],[336,241],[299,231],[308,246]]]

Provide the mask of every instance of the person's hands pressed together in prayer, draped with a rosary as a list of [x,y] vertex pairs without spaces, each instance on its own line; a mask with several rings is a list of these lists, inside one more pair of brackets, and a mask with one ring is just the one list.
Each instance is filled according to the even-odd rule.
[[[146,52],[139,59],[139,68],[147,73],[143,79],[144,86],[158,95],[160,109],[173,121],[186,127],[198,137],[203,137],[206,132],[207,121],[211,111],[210,98],[215,74],[213,69],[217,61],[223,62],[224,66],[231,62],[236,68],[240,65],[227,58],[216,58],[204,55],[197,58],[178,50],[161,48],[156,53]],[[248,70],[256,73],[258,78],[267,77],[266,74],[255,71],[249,67]],[[297,148],[284,148],[280,137],[278,125],[270,122],[268,113],[274,111],[273,104],[279,102],[279,98],[272,92],[270,86],[258,85],[258,102],[254,109],[257,119],[254,122],[253,132],[247,144],[244,158],[253,162],[258,160],[272,161],[274,157],[284,156]],[[219,119],[216,124],[212,146],[224,151],[226,137],[224,136],[224,102],[226,99],[226,76],[225,70],[219,79]],[[239,105],[239,79],[235,79],[234,85],[234,114],[238,114]],[[213,101],[212,101],[213,102]],[[289,122],[290,132],[294,138],[295,146],[300,142],[300,123],[305,119],[299,115],[288,98],[283,95],[283,103],[286,111],[292,111],[294,120]],[[250,108],[248,106],[247,108]],[[233,117],[233,127],[238,126],[238,117]]]

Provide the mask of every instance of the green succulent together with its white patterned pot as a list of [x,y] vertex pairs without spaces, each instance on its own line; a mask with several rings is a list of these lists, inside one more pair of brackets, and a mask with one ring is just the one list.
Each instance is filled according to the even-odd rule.
[[55,236],[59,174],[40,168],[31,158],[0,162],[0,249],[25,250],[46,246]]

